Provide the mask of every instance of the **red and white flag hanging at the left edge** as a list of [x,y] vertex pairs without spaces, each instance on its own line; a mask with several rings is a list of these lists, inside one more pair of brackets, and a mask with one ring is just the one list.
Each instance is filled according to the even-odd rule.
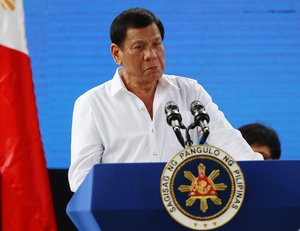
[[0,0],[2,231],[57,230],[28,55],[22,0]]

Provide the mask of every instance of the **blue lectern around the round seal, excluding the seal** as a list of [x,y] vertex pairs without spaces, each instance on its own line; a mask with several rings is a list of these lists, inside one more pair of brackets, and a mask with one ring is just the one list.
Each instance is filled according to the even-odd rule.
[[[240,161],[242,208],[217,230],[300,230],[300,161]],[[80,231],[182,231],[165,211],[160,177],[165,163],[99,164],[67,206]]]

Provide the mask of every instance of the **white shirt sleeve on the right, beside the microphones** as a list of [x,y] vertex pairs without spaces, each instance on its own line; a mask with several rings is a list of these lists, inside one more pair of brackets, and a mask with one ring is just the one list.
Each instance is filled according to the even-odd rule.
[[204,88],[198,83],[194,87],[197,98],[210,116],[207,143],[227,152],[235,160],[263,160],[262,155],[254,152],[241,133],[231,126]]

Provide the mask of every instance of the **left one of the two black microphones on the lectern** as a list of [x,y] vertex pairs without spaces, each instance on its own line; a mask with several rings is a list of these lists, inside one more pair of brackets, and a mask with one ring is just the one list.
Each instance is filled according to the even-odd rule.
[[167,123],[172,127],[179,143],[185,148],[184,139],[180,132],[180,128],[182,127],[182,117],[179,113],[179,108],[177,104],[173,101],[167,102],[165,105],[165,113],[167,116]]

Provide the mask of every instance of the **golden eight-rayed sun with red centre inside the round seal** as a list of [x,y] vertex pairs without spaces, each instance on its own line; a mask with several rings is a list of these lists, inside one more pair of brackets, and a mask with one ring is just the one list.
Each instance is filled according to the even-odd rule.
[[223,191],[227,188],[227,185],[224,183],[214,183],[214,179],[220,174],[218,169],[213,170],[208,177],[205,174],[205,169],[205,165],[200,163],[198,166],[198,177],[195,177],[190,171],[184,171],[184,177],[191,181],[191,185],[181,185],[178,188],[180,192],[189,192],[189,198],[186,200],[186,206],[192,206],[195,201],[199,199],[200,210],[203,213],[205,213],[208,209],[208,199],[210,199],[215,205],[222,204],[217,191]]

